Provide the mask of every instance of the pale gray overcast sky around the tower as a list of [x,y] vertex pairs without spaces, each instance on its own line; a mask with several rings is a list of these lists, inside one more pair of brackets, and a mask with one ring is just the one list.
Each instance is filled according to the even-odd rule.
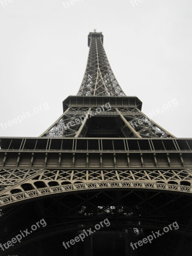
[[0,136],[38,137],[58,119],[96,28],[125,93],[176,137],[192,137],[192,0],[72,3],[0,0]]

